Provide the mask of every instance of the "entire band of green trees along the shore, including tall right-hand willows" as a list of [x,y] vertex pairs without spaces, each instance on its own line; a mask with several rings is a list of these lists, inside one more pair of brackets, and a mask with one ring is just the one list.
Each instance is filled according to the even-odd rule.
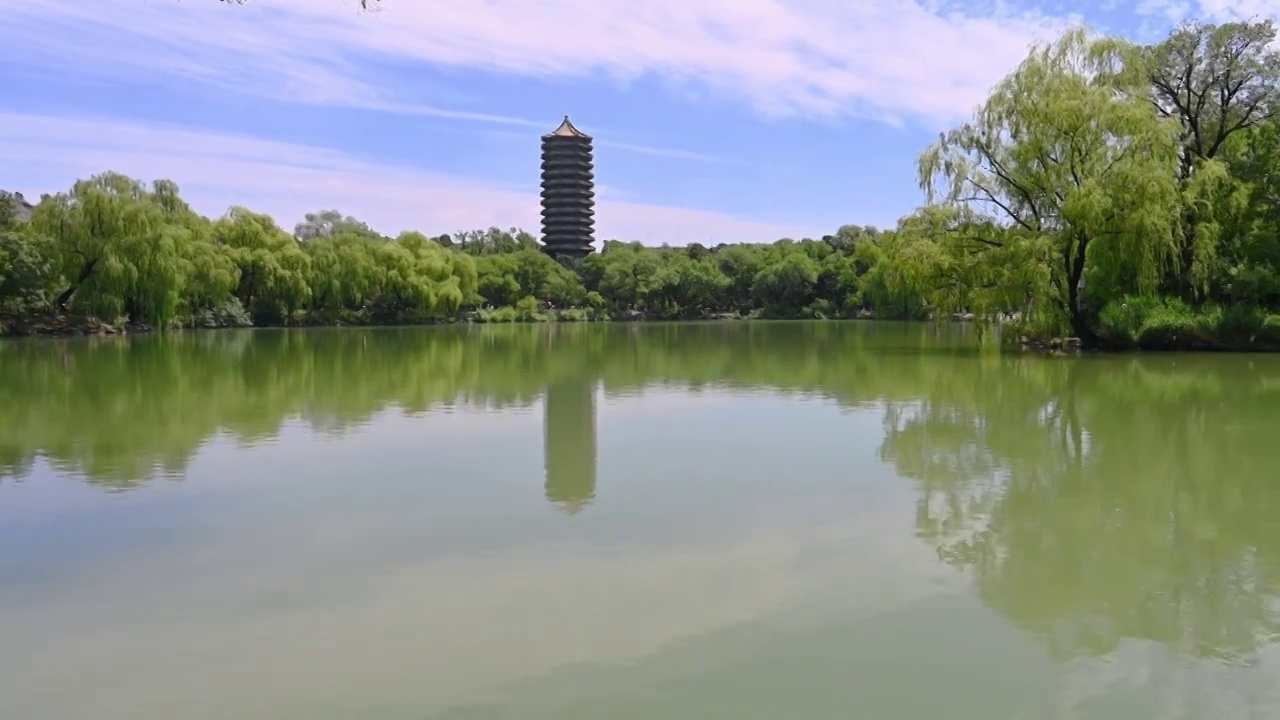
[[1280,54],[1271,22],[1032,49],[919,158],[892,229],[769,245],[605,241],[558,263],[512,228],[384,237],[209,219],[116,173],[0,199],[0,325],[946,318],[1096,345],[1280,347]]

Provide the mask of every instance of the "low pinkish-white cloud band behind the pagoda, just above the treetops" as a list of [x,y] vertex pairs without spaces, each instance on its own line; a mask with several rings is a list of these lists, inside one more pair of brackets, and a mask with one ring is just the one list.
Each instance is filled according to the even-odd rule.
[[[489,225],[536,232],[536,188],[499,186],[410,167],[380,165],[308,147],[111,120],[0,113],[0,188],[36,197],[77,178],[116,170],[140,179],[169,178],[201,213],[232,205],[270,213],[292,227],[303,214],[337,208],[394,234]],[[778,225],[718,213],[609,200],[596,206],[596,237],[658,245],[771,242],[819,236],[832,228]]]

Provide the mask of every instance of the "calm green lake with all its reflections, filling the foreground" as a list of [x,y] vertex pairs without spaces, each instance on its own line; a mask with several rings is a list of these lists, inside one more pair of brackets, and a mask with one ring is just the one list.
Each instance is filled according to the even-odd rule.
[[1280,717],[1280,357],[0,343],[5,720]]

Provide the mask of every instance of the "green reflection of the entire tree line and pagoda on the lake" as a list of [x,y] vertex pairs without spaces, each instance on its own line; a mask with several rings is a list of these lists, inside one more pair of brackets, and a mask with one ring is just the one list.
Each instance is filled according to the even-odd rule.
[[[0,343],[0,478],[108,489],[288,421],[545,398],[545,495],[596,492],[595,402],[650,386],[882,407],[916,530],[1064,656],[1126,639],[1253,662],[1280,632],[1280,359],[1012,357],[964,327],[654,324],[259,331]],[[3,482],[3,480],[0,480]]]

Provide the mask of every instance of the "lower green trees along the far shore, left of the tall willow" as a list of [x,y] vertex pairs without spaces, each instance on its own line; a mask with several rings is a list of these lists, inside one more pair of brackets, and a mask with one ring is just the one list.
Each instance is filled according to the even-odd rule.
[[233,208],[210,220],[177,187],[106,173],[3,225],[0,313],[169,327],[923,314],[876,265],[891,233],[705,249],[607,242],[570,268],[518,229],[383,237],[338,211],[293,233]]

